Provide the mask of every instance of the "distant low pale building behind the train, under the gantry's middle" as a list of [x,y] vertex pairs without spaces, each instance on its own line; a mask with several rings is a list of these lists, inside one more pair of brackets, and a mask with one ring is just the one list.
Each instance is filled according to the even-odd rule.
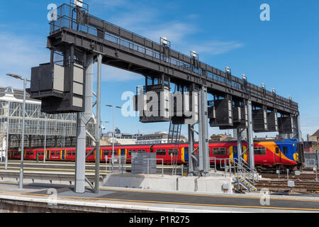
[[[168,143],[169,135],[166,132],[156,132],[154,134],[145,134],[138,136],[136,144],[162,144]],[[179,143],[187,143],[188,140],[184,135],[181,135],[179,138]]]

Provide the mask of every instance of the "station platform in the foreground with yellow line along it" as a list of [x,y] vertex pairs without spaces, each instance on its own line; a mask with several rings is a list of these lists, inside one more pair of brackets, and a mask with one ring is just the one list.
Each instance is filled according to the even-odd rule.
[[319,212],[319,198],[262,194],[160,192],[103,187],[76,194],[65,185],[0,182],[0,212]]

